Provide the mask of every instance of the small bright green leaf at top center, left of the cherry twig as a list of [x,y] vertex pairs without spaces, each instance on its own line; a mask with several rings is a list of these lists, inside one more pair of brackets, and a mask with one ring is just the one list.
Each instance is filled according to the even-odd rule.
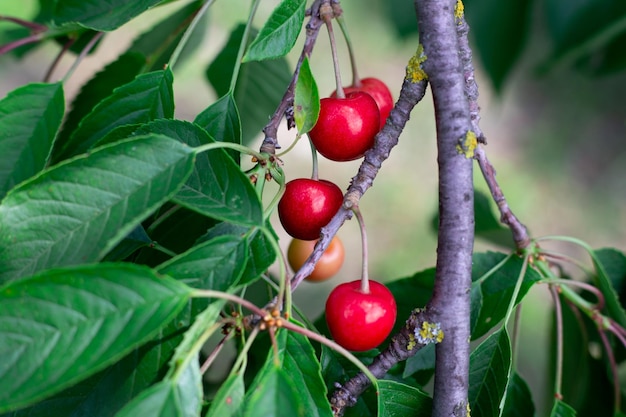
[[287,55],[304,22],[305,0],[283,0],[248,47],[243,61],[262,61]]

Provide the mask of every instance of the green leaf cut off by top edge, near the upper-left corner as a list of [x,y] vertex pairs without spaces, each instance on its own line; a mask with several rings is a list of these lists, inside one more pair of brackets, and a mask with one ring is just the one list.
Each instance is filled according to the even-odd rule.
[[111,31],[140,15],[162,0],[56,0],[53,11],[55,25],[78,23],[98,31]]

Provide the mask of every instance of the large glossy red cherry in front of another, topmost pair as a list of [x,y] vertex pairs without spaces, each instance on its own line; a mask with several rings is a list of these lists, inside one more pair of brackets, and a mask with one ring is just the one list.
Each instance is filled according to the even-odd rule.
[[374,145],[380,130],[380,111],[367,93],[353,92],[346,98],[320,100],[317,123],[309,132],[319,153],[332,161],[352,161]]

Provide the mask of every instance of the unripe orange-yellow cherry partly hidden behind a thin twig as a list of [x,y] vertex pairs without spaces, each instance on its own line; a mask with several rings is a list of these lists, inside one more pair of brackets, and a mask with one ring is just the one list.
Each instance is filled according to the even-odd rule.
[[[300,240],[292,239],[287,248],[287,260],[289,266],[294,271],[302,268],[304,262],[309,258],[317,240]],[[322,254],[322,257],[315,264],[315,268],[311,275],[306,277],[307,281],[319,282],[325,281],[335,275],[341,269],[345,258],[345,250],[343,243],[339,237],[335,236],[328,244],[328,247]]]

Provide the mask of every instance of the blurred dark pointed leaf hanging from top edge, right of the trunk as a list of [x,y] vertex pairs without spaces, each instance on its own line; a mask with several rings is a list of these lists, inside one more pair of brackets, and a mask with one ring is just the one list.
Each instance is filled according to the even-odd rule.
[[528,36],[532,2],[468,0],[465,11],[480,60],[497,91],[521,55]]

